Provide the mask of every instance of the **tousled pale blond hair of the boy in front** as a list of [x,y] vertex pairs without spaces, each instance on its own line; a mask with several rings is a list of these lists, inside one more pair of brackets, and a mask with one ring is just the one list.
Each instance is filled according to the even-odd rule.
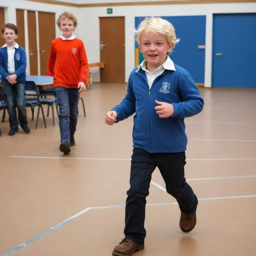
[[138,45],[141,43],[141,34],[143,31],[165,35],[167,43],[174,48],[179,39],[176,38],[173,25],[160,17],[148,17],[141,21],[137,30],[134,31]]

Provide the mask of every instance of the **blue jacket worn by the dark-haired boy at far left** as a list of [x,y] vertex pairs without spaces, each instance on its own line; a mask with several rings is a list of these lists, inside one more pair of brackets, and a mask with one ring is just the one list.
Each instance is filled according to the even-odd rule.
[[[15,64],[15,74],[17,75],[17,82],[25,81],[26,79],[26,53],[24,48],[20,45],[15,48],[14,53],[14,64]],[[8,73],[8,54],[7,46],[0,48],[0,75],[1,80],[6,81],[6,77],[10,74]]]

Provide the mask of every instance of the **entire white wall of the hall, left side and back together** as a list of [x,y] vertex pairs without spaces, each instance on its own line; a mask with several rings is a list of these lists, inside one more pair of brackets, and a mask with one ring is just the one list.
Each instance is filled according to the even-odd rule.
[[[77,0],[77,2],[90,0]],[[111,0],[98,0],[107,2]],[[117,0],[116,0],[117,1]],[[118,0],[120,1],[120,0]],[[126,0],[125,0],[126,1]],[[128,1],[128,0],[127,0]],[[104,16],[125,16],[125,81],[134,67],[134,29],[135,16],[179,16],[179,15],[206,15],[206,48],[205,48],[205,77],[206,87],[211,87],[211,59],[212,59],[212,17],[213,13],[256,12],[254,3],[215,3],[215,4],[170,4],[170,5],[133,5],[113,6],[113,14],[106,14],[107,7],[70,7],[63,5],[38,3],[27,0],[0,0],[0,6],[5,9],[5,22],[16,23],[15,8],[55,12],[56,18],[63,11],[70,11],[77,17],[78,27],[75,35],[83,40],[89,62],[100,61],[99,49],[99,18]],[[15,6],[15,7],[14,7]],[[108,6],[111,7],[111,6]],[[56,37],[61,33],[56,25]],[[25,22],[25,41],[28,43],[27,26]],[[39,49],[38,49],[39,50]],[[29,60],[29,48],[26,48]],[[38,54],[39,55],[39,54]],[[99,68],[91,68],[93,81],[99,81]],[[28,72],[29,74],[29,63]]]

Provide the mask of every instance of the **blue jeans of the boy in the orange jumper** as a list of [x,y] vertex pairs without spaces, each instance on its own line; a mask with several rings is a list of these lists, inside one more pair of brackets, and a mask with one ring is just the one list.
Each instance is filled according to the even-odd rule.
[[70,142],[70,135],[76,130],[78,117],[78,88],[56,86],[57,102],[59,105],[60,142]]

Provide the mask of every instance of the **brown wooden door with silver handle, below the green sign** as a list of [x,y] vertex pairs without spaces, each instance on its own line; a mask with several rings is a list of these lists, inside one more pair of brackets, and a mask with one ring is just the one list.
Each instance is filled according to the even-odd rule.
[[125,82],[124,17],[100,17],[100,82]]

